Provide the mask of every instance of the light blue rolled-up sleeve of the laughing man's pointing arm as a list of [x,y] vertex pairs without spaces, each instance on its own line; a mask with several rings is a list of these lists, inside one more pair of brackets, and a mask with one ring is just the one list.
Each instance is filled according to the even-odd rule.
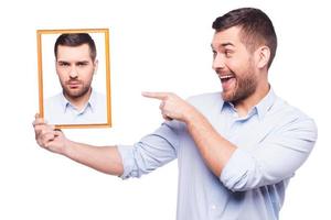
[[298,120],[260,140],[254,150],[233,153],[220,180],[233,191],[277,184],[291,177],[309,156],[317,140],[311,119]]

